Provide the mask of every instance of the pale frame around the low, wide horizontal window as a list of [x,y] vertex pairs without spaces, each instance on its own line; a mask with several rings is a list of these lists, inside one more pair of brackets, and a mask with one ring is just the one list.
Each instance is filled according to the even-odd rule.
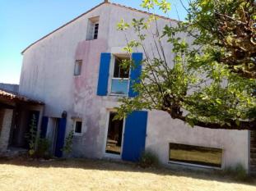
[[184,143],[168,143],[168,150],[169,150],[169,155],[168,155],[168,163],[169,164],[177,164],[177,165],[184,165],[184,166],[195,166],[195,167],[200,167],[200,168],[207,168],[207,169],[223,169],[223,158],[224,158],[224,149],[223,148],[215,148],[215,149],[220,149],[221,150],[221,167],[218,166],[207,166],[207,165],[200,165],[200,164],[195,164],[192,162],[185,162],[185,161],[174,161],[170,159],[170,144],[179,144],[179,145],[186,145],[190,147],[202,147],[202,148],[210,148],[210,147],[204,147],[204,146],[198,146],[198,145],[191,145],[191,144],[184,144]]

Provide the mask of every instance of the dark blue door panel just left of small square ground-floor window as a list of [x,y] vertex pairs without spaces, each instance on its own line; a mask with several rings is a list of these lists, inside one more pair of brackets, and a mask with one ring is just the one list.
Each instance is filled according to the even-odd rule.
[[63,157],[66,124],[67,124],[66,118],[58,119],[57,139],[56,139],[56,146],[55,146],[55,152],[54,152],[55,157]]

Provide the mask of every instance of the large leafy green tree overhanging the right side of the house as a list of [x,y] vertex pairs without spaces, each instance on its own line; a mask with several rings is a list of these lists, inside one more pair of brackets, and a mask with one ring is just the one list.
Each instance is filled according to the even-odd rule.
[[[222,13],[215,10],[223,3],[226,6],[223,10],[228,10],[226,16],[231,16],[224,16],[226,25],[232,25],[233,30],[221,30],[223,23],[212,25],[216,20],[221,20]],[[145,59],[142,61],[140,83],[133,85],[138,96],[122,98],[116,118],[125,117],[134,110],[156,109],[166,111],[173,119],[191,126],[256,130],[256,80],[254,66],[250,64],[255,65],[255,60],[249,63],[250,59],[255,58],[255,49],[246,49],[248,47],[245,45],[254,41],[243,43],[235,36],[240,26],[236,27],[234,19],[243,5],[239,0],[194,0],[189,4],[186,21],[177,25],[170,23],[164,29],[158,29],[158,18],[154,14],[147,20],[133,19],[132,23],[121,20],[119,30],[125,34],[128,29],[133,29],[137,34],[137,40],[128,41],[124,49],[132,53],[134,48],[142,48]],[[244,6],[247,7],[247,4]],[[156,8],[164,13],[170,11],[170,3],[165,0],[143,0],[142,7],[152,12]],[[245,9],[241,7],[241,10]],[[252,10],[249,8],[249,11]],[[254,8],[249,17],[255,19]],[[146,31],[150,25],[156,27],[156,34],[151,37],[156,52],[148,52],[145,46],[149,40]],[[182,33],[193,39],[193,43],[180,39],[179,34]],[[244,34],[244,39],[248,38]],[[162,46],[164,40],[172,44],[171,50]],[[244,51],[244,56],[238,61],[236,49]],[[173,53],[173,64],[169,63],[166,51]],[[123,61],[122,67],[128,69],[135,66],[130,60]]]

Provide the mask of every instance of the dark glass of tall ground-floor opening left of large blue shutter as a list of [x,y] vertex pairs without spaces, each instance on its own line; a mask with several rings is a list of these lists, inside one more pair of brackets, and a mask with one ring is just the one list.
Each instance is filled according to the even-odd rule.
[[123,139],[123,120],[114,121],[115,112],[109,113],[109,127],[105,152],[121,154]]

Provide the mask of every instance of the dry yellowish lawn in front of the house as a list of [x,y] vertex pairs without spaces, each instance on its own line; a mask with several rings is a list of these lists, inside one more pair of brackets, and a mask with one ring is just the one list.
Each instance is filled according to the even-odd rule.
[[68,159],[62,161],[0,161],[0,190],[256,190],[221,173],[142,169],[133,163]]

